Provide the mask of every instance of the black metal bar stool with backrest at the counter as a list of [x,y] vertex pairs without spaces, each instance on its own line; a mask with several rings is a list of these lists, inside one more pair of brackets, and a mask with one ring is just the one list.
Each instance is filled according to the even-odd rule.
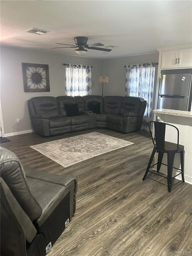
[[[151,133],[151,128],[150,128],[150,125],[149,125],[150,123],[154,123],[155,142],[156,143],[154,142],[154,139],[153,139],[153,136],[152,136],[152,133]],[[166,125],[172,126],[175,129],[177,129],[177,144],[165,141]],[[150,157],[150,160],[149,160],[149,163],[148,163],[148,166],[147,166],[147,170],[146,170],[145,175],[143,177],[143,180],[145,180],[148,172],[159,175],[159,176],[167,179],[168,191],[171,192],[172,178],[175,178],[176,176],[181,174],[182,181],[185,182],[185,180],[184,180],[184,146],[179,145],[179,130],[174,125],[163,123],[163,122],[156,122],[156,121],[148,122],[148,126],[149,126],[149,131],[151,133],[154,148],[153,148],[153,152],[151,154],[151,157]],[[155,155],[156,152],[158,153],[158,161],[156,163],[157,164],[157,172],[159,172],[161,164],[163,164],[162,163],[163,154],[167,153],[167,164],[163,164],[163,165],[167,165],[167,177],[165,177],[165,176],[163,176],[159,173],[154,173],[154,172],[149,170],[151,167],[156,165],[156,164],[154,164],[154,165],[151,166],[151,163],[153,161],[153,158],[154,158],[154,155]],[[176,153],[180,153],[181,169],[173,167],[174,158],[175,158]],[[180,170],[180,173],[175,175],[174,177],[172,177],[173,168],[177,169],[177,170]]]

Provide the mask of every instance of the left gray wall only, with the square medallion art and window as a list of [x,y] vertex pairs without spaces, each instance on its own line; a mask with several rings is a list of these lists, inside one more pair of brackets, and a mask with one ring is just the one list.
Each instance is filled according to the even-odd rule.
[[[22,62],[48,64],[50,92],[24,92]],[[65,95],[65,67],[63,63],[91,65],[92,94],[101,94],[99,76],[102,75],[102,60],[53,54],[29,49],[1,47],[1,107],[4,132],[30,130],[31,122],[27,100],[36,96]],[[20,123],[16,123],[16,119]]]

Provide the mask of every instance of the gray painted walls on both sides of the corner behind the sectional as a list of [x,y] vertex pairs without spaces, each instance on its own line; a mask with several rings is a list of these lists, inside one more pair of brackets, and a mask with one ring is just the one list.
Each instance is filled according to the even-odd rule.
[[[28,99],[36,96],[57,97],[65,95],[65,67],[63,63],[93,66],[93,95],[101,95],[102,85],[98,81],[100,75],[105,75],[109,77],[109,83],[104,84],[104,96],[124,96],[126,74],[124,65],[157,62],[158,55],[158,53],[153,53],[101,60],[29,49],[1,47],[1,107],[5,134],[32,129],[27,107]],[[24,92],[22,62],[49,65],[50,92]],[[20,119],[19,123],[16,123],[17,118]]]

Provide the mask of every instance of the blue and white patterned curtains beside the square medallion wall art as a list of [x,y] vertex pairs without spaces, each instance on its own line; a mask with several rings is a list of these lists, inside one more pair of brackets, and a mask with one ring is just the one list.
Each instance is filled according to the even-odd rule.
[[66,95],[84,96],[91,94],[91,67],[68,64],[66,67]]

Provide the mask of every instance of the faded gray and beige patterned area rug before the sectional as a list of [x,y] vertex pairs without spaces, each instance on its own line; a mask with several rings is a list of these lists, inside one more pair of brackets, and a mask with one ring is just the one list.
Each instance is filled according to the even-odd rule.
[[91,132],[30,147],[67,167],[131,144],[134,143],[99,132]]

